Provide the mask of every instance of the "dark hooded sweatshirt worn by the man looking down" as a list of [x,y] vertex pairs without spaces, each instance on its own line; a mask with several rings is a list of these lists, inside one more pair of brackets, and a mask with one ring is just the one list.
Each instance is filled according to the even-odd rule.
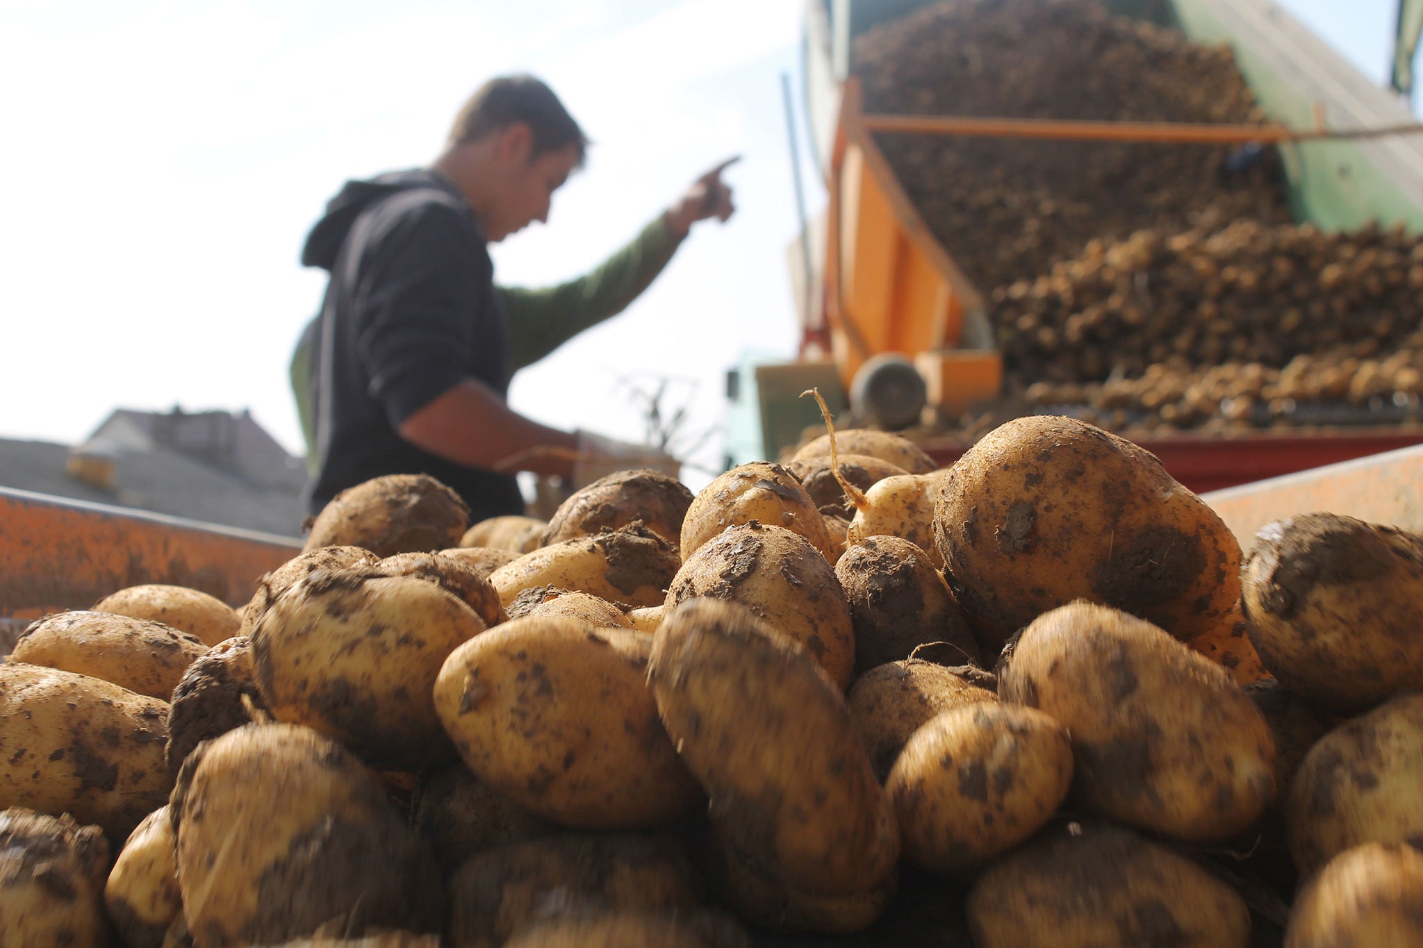
[[347,182],[326,206],[302,252],[303,264],[330,271],[312,340],[312,513],[391,473],[447,483],[472,520],[524,512],[512,476],[447,460],[398,433],[467,378],[508,392],[508,327],[485,244],[464,198],[433,171]]

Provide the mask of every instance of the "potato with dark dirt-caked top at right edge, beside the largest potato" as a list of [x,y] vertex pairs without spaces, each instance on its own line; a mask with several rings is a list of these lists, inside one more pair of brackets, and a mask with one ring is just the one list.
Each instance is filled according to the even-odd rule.
[[1331,513],[1276,520],[1242,584],[1249,638],[1285,688],[1340,711],[1423,688],[1423,537]]

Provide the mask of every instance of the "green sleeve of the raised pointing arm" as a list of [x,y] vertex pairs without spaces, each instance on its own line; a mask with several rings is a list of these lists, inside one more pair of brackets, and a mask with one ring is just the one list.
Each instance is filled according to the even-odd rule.
[[662,273],[680,243],[659,215],[586,276],[544,289],[499,287],[509,320],[509,368],[531,365],[622,313]]

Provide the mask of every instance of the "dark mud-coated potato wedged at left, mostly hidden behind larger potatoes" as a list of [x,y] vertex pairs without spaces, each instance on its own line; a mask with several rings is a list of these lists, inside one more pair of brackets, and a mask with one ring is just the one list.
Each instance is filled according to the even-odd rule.
[[252,721],[248,705],[266,711],[252,667],[252,640],[229,638],[188,667],[168,705],[168,770],[178,767],[203,740]]

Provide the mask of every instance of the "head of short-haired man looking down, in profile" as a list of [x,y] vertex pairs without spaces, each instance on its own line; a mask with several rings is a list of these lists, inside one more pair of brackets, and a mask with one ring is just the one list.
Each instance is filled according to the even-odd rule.
[[460,109],[435,168],[450,175],[484,225],[502,240],[535,220],[583,163],[588,138],[554,91],[532,75],[485,82]]

